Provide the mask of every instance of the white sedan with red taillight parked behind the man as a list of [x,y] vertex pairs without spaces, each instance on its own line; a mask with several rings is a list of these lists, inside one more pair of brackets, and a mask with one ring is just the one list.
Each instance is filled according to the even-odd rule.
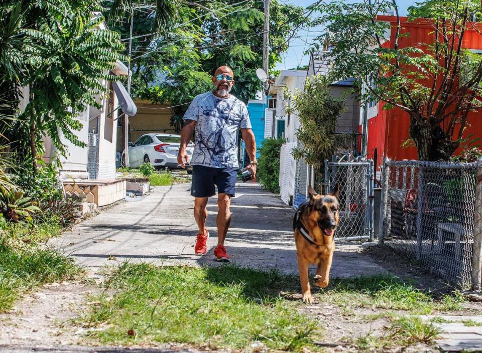
[[[177,153],[181,145],[181,135],[148,133],[129,145],[129,165],[140,166],[151,163],[156,167],[179,168]],[[186,152],[189,157],[194,151],[194,143],[189,141]],[[126,151],[122,151],[122,165],[126,165]]]

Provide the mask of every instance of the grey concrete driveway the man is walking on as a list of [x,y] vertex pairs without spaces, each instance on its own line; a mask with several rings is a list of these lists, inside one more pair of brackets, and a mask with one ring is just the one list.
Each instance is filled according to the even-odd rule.
[[[124,261],[164,265],[217,265],[216,197],[207,206],[208,253],[194,255],[197,227],[190,184],[153,188],[136,198],[85,220],[50,244],[70,254],[80,265],[101,267]],[[232,199],[231,226],[225,242],[233,263],[254,268],[278,267],[296,273],[292,220],[294,211],[258,184],[238,184]],[[337,242],[332,276],[384,272],[360,246]]]

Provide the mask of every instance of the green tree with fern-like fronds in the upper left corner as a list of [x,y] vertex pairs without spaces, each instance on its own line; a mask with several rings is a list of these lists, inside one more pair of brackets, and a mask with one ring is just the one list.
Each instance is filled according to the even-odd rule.
[[122,44],[117,33],[100,28],[98,10],[99,3],[91,0],[0,5],[2,23],[9,24],[0,43],[3,93],[20,98],[20,87],[29,88],[27,108],[9,137],[27,141],[34,166],[42,135],[50,136],[63,154],[61,135],[83,145],[75,135],[82,127],[77,112],[86,105],[101,108],[96,97],[108,92],[102,82],[116,78],[109,71],[121,58]]

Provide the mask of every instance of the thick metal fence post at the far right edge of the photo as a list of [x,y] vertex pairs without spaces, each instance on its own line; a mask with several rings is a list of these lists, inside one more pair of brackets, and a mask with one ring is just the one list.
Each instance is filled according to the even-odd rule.
[[477,159],[472,248],[472,290],[480,290],[482,276],[482,156]]

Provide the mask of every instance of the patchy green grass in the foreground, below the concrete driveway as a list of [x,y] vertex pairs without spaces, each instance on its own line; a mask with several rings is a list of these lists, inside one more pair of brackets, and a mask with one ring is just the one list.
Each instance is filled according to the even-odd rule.
[[[90,298],[95,305],[76,322],[91,329],[85,339],[94,344],[177,342],[253,350],[252,344],[261,342],[269,350],[322,351],[317,343],[330,333],[323,327],[327,320],[336,320],[303,314],[305,305],[288,299],[299,291],[298,277],[276,270],[125,263],[113,271],[104,289],[105,294]],[[342,313],[379,309],[377,317],[389,323],[381,336],[352,332],[346,337],[359,350],[431,344],[438,330],[414,315],[457,310],[463,301],[458,293],[433,298],[389,275],[334,279],[315,297],[339,306]]]

